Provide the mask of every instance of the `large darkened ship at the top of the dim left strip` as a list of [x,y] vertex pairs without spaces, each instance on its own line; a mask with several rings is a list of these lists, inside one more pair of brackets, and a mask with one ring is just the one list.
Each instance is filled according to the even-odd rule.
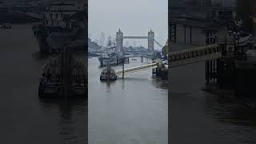
[[75,43],[75,49],[85,49],[86,2],[51,2],[46,8],[43,22],[33,26],[32,30],[42,53],[62,51],[68,42]]

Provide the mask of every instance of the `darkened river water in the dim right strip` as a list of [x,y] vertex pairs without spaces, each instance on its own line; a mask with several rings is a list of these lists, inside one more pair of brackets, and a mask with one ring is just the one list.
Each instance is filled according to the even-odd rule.
[[[193,43],[204,42],[200,31],[194,30]],[[172,50],[188,47],[173,44]],[[256,143],[256,109],[244,98],[209,94],[205,86],[205,62],[170,69],[170,143]]]

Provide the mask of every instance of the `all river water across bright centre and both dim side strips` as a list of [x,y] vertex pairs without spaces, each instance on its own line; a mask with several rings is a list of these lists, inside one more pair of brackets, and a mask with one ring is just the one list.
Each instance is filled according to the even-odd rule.
[[[0,143],[86,143],[87,102],[38,98],[42,66],[31,25],[0,30]],[[204,62],[170,70],[167,82],[146,70],[100,82],[89,59],[89,143],[256,143],[255,110],[208,94]],[[140,58],[128,66],[141,65]],[[117,67],[121,69],[121,67]]]

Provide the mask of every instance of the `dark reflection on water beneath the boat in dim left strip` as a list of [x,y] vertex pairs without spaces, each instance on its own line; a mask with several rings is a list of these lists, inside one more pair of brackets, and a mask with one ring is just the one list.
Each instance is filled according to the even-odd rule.
[[86,142],[86,131],[87,131],[87,118],[85,118],[84,123],[80,123],[81,130],[83,129],[84,133],[77,133],[76,122],[78,119],[76,116],[83,116],[88,113],[86,98],[72,98],[65,100],[62,98],[40,98],[42,107],[44,108],[53,108],[58,109],[58,134],[62,135],[65,142],[76,142],[83,143]]

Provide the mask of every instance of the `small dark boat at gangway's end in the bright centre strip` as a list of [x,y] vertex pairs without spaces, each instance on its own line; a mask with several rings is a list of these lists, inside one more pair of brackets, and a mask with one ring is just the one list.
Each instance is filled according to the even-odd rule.
[[115,74],[114,69],[111,68],[110,64],[108,64],[101,73],[100,80],[101,81],[114,81],[117,80],[117,75]]

